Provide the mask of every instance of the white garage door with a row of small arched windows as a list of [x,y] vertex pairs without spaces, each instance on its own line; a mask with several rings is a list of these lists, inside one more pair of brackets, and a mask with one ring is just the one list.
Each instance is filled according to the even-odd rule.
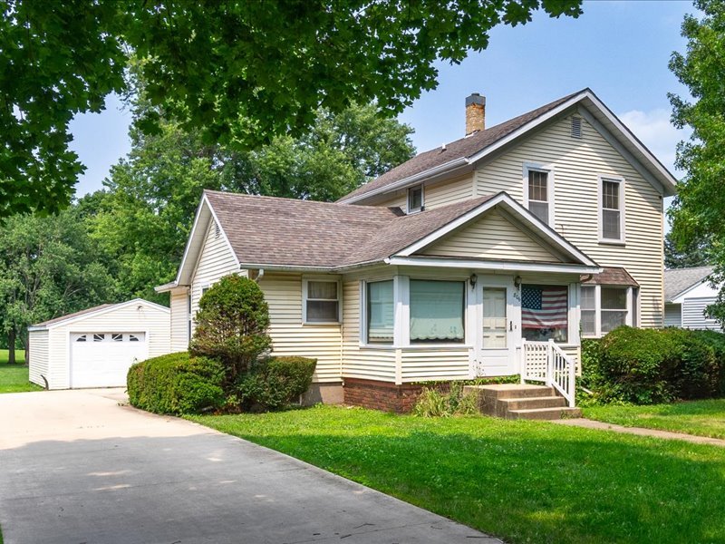
[[71,387],[125,385],[131,364],[148,354],[144,333],[71,333]]

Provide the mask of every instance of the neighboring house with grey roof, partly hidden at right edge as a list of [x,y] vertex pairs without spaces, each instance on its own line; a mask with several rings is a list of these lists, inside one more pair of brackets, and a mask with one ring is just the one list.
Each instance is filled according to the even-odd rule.
[[719,293],[710,285],[712,267],[664,271],[664,325],[719,331],[720,323],[705,315]]

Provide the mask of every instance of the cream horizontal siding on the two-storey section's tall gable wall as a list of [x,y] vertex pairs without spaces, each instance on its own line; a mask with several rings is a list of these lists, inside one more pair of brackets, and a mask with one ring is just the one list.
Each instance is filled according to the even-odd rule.
[[[582,138],[570,134],[571,118],[478,168],[478,194],[505,190],[523,204],[523,165],[554,171],[556,230],[604,267],[625,267],[640,284],[640,323],[662,326],[662,197],[594,127],[582,121]],[[598,176],[625,180],[626,245],[600,244]]]

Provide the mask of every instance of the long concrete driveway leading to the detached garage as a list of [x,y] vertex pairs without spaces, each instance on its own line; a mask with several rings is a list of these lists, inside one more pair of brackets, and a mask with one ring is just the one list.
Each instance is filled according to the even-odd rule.
[[123,400],[120,390],[0,394],[5,544],[498,542]]

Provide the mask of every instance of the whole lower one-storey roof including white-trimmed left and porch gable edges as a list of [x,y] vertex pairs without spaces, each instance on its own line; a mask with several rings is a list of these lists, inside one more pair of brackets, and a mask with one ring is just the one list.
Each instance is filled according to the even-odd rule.
[[[565,266],[585,267],[583,272],[598,270],[592,259],[504,192],[403,215],[398,208],[205,191],[195,225],[199,217],[218,221],[241,268],[340,272],[382,264],[396,255],[410,257],[417,245],[430,244],[496,206],[507,209],[525,228],[536,230],[544,243],[565,254],[570,263]],[[199,226],[198,231],[206,228]],[[193,255],[198,255],[203,239],[192,232],[176,281],[157,291],[188,285],[196,262]]]

